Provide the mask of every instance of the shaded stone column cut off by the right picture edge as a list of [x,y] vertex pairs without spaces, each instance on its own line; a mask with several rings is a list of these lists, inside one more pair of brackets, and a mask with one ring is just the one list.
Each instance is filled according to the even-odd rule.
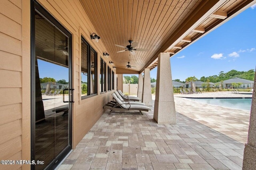
[[252,93],[252,107],[250,125],[248,131],[248,142],[244,148],[243,170],[256,170],[256,72]]

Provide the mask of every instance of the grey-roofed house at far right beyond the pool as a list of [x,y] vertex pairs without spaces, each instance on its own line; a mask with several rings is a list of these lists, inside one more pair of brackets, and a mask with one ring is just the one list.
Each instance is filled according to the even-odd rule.
[[[218,84],[220,84],[221,82],[218,82]],[[253,88],[254,85],[254,81],[252,80],[246,80],[243,78],[230,78],[228,80],[224,80],[222,82],[222,87],[223,88],[230,88],[232,87],[232,83],[242,83],[240,87],[238,88]]]

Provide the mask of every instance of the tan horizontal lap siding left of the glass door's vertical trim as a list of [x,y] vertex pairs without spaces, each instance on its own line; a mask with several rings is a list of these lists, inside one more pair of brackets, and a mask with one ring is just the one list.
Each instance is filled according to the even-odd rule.
[[[21,0],[1,0],[0,20],[0,160],[22,160]],[[3,170],[20,168],[0,164]]]

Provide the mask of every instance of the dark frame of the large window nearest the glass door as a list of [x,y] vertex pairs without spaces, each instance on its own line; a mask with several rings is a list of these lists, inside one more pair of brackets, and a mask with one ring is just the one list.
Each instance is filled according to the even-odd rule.
[[[88,73],[87,73],[87,95],[86,96],[82,96],[82,91],[80,93],[80,97],[81,100],[87,99],[87,98],[91,98],[93,96],[96,96],[98,94],[98,86],[97,86],[97,80],[98,80],[98,65],[97,65],[97,59],[98,59],[98,53],[96,50],[94,50],[94,48],[88,43],[88,41],[86,41],[86,39],[84,38],[84,36],[81,34],[81,43],[86,43],[87,47],[88,47],[88,51],[87,51],[87,69],[88,69]],[[81,51],[82,51],[82,44],[81,44]],[[91,74],[92,74],[92,70],[91,70],[91,52],[95,53],[94,56],[94,94],[91,94]],[[82,53],[81,53],[81,66],[80,68],[82,68]],[[82,70],[80,72],[80,74],[82,73]],[[82,82],[80,81],[80,88],[82,88]]]

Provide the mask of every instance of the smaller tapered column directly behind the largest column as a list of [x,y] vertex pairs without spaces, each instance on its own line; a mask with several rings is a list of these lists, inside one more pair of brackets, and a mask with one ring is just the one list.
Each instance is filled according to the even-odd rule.
[[146,106],[152,106],[152,94],[151,94],[150,69],[149,68],[144,69],[142,102]]

